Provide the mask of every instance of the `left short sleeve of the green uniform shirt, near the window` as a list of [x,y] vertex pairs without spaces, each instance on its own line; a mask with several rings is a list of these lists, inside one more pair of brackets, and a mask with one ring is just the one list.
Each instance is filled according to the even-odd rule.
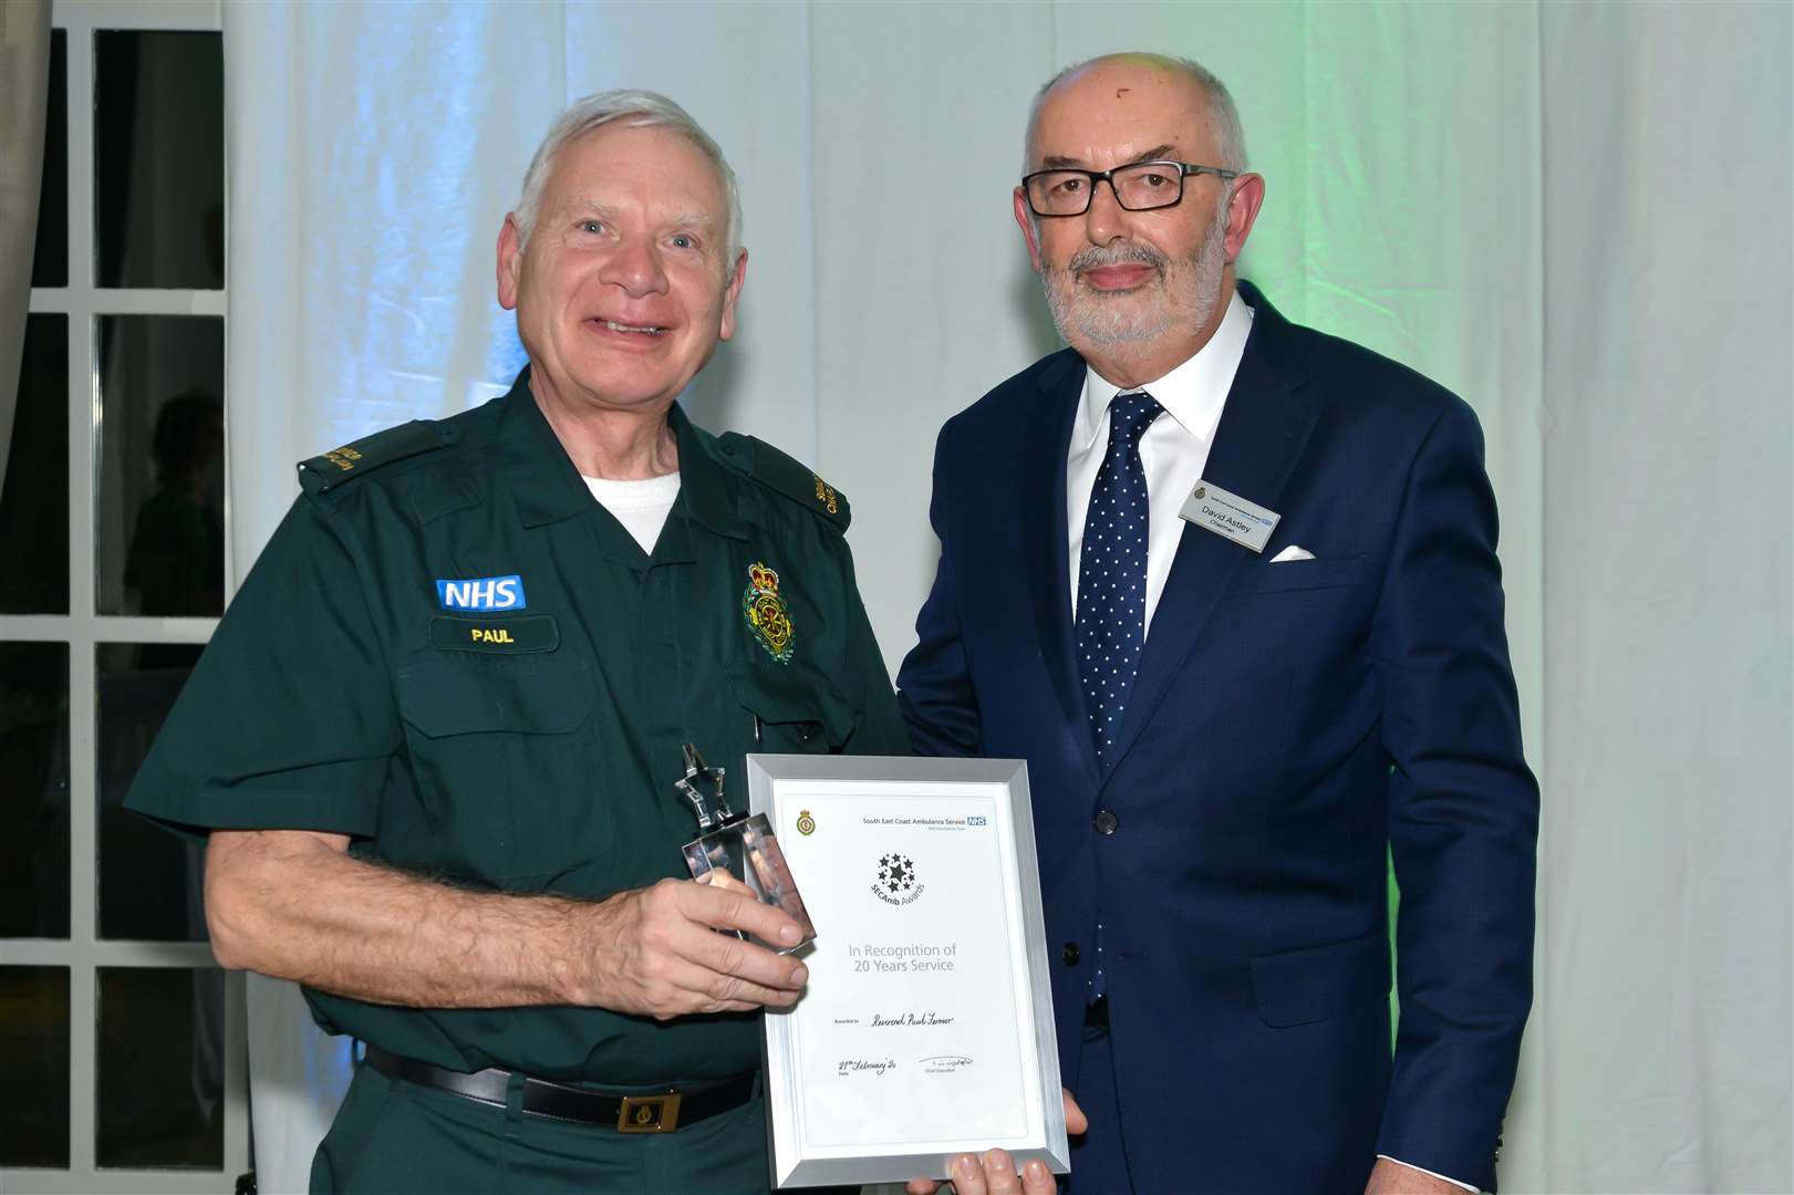
[[126,807],[185,831],[370,836],[402,745],[364,554],[300,499],[230,603]]

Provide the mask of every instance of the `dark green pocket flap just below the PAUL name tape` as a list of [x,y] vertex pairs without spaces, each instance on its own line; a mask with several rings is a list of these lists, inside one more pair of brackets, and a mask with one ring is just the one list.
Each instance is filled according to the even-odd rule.
[[398,669],[398,714],[432,739],[450,734],[565,734],[592,712],[583,660],[431,653]]

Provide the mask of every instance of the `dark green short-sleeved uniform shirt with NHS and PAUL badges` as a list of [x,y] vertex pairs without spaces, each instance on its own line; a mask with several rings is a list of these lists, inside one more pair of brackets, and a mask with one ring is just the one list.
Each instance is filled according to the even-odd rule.
[[[755,440],[676,406],[669,422],[680,493],[651,556],[592,499],[527,371],[307,461],[126,804],[188,831],[348,834],[459,886],[605,897],[687,876],[685,741],[737,807],[750,750],[908,754],[845,499]],[[330,1032],[457,1071],[646,1086],[759,1066],[753,1014],[307,998]]]

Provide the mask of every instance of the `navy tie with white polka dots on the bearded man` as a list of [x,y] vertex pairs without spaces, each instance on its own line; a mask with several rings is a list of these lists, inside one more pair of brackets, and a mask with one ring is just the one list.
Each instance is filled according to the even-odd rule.
[[1109,450],[1096,470],[1078,554],[1078,676],[1091,714],[1096,763],[1121,732],[1146,642],[1146,470],[1139,438],[1164,414],[1145,391],[1109,404]]

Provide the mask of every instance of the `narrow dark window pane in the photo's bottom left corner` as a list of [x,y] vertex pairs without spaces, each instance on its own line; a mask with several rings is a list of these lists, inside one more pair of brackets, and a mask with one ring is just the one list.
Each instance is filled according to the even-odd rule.
[[68,967],[0,967],[0,1166],[68,1166]]

